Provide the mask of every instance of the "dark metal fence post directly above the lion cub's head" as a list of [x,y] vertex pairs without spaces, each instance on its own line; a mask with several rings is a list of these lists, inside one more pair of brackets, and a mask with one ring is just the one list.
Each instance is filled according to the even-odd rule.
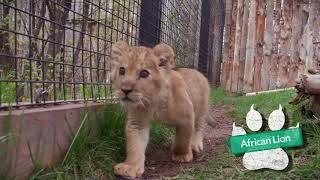
[[141,0],[139,45],[152,47],[160,42],[161,0]]

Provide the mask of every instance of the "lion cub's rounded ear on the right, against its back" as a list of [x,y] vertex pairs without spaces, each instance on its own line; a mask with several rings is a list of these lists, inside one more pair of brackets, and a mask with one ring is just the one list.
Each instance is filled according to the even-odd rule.
[[172,69],[174,64],[174,52],[173,49],[164,43],[160,43],[153,48],[154,54],[159,58],[159,66]]

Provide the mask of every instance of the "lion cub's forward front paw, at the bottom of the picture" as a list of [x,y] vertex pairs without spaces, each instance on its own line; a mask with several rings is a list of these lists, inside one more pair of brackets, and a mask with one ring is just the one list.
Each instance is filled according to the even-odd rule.
[[114,173],[120,176],[141,177],[144,167],[126,163],[119,163],[114,166]]

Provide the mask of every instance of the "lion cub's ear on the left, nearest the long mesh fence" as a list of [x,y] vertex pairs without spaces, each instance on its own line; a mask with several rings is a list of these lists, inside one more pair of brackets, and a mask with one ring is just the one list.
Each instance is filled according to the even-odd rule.
[[125,41],[118,41],[111,48],[111,64],[117,65],[121,61],[121,57],[129,49],[129,45]]

